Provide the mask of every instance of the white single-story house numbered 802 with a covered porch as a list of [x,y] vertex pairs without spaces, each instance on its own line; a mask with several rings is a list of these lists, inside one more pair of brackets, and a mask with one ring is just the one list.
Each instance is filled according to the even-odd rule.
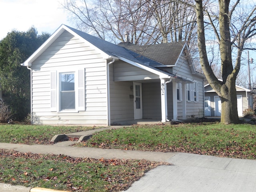
[[125,46],[61,25],[21,64],[31,71],[32,124],[204,116],[204,76],[185,42]]

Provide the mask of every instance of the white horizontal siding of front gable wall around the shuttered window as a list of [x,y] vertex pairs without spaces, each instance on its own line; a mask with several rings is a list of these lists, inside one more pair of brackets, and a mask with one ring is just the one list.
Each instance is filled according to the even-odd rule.
[[[81,68],[85,75],[85,111],[51,111],[50,72],[72,72]],[[106,125],[106,93],[106,60],[90,44],[66,31],[32,62],[33,124]]]

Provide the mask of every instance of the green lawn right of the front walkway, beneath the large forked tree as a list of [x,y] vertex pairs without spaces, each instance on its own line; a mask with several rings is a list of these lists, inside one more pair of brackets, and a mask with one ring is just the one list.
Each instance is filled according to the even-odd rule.
[[146,125],[98,132],[76,146],[256,159],[255,136],[256,126],[250,124]]

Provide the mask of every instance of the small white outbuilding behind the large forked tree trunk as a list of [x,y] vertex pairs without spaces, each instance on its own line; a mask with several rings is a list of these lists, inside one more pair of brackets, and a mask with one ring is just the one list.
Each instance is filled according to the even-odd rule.
[[[242,117],[244,110],[253,108],[253,92],[249,89],[236,85],[236,98],[238,116]],[[204,115],[221,115],[220,97],[213,90],[210,84],[204,86]]]

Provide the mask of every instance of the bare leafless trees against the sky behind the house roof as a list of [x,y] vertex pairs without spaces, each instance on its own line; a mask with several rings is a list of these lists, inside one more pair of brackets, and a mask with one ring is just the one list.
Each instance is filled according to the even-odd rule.
[[[190,0],[191,1],[191,0]],[[196,42],[194,9],[168,0],[65,0],[62,5],[72,13],[80,30],[112,42],[139,45],[186,41]]]

